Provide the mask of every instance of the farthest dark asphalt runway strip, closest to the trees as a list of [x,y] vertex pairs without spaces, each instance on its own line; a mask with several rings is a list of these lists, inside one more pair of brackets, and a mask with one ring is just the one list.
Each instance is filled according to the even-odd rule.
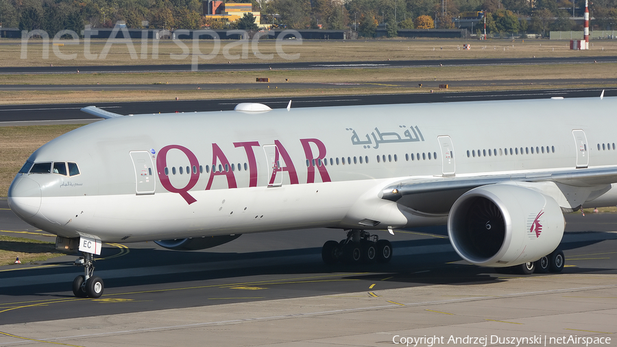
[[[263,71],[269,69],[361,69],[361,68],[400,68],[451,66],[489,66],[489,65],[529,65],[529,64],[594,64],[598,62],[617,62],[617,57],[567,57],[567,58],[498,58],[498,59],[432,59],[432,60],[383,60],[355,62],[264,62],[238,64],[199,64],[199,71]],[[38,73],[127,73],[127,72],[171,72],[192,71],[191,64],[165,65],[113,65],[113,66],[45,66],[45,67],[0,67],[0,74],[38,74]]]

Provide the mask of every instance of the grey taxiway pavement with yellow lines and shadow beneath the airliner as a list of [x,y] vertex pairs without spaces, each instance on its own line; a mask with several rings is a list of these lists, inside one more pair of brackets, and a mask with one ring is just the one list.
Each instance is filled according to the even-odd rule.
[[[328,229],[243,235],[196,252],[107,245],[96,264],[106,283],[99,299],[73,298],[76,254],[3,266],[0,346],[383,346],[425,335],[450,346],[479,346],[455,343],[467,336],[493,338],[489,346],[532,336],[546,346],[580,345],[558,337],[615,344],[617,215],[567,220],[561,274],[467,265],[444,228],[382,232],[393,261],[356,267],[322,264],[322,243],[344,236]],[[53,241],[6,200],[0,230]]]

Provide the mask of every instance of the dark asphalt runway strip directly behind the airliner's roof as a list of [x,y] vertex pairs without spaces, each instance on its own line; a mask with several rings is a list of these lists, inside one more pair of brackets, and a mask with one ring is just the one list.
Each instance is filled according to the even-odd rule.
[[[121,115],[166,112],[196,112],[233,110],[241,102],[261,102],[271,108],[285,108],[291,99],[291,107],[350,106],[378,104],[415,104],[420,102],[478,101],[506,99],[540,99],[549,97],[599,97],[616,96],[617,88],[542,89],[524,91],[444,92],[413,94],[338,95],[328,97],[263,97],[258,99],[207,99],[180,101],[136,101],[97,103],[95,106]],[[36,125],[49,123],[90,123],[100,120],[80,111],[92,103],[3,105],[0,106],[0,126]]]

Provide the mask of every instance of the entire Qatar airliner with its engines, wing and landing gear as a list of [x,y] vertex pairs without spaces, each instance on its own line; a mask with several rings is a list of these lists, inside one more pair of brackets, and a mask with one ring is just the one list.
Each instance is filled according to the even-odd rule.
[[36,150],[8,202],[83,252],[73,293],[91,298],[104,290],[101,243],[199,250],[299,228],[346,232],[324,244],[326,263],[387,262],[387,232],[447,224],[465,261],[559,272],[563,213],[617,204],[617,97],[290,106],[86,107],[105,120]]

